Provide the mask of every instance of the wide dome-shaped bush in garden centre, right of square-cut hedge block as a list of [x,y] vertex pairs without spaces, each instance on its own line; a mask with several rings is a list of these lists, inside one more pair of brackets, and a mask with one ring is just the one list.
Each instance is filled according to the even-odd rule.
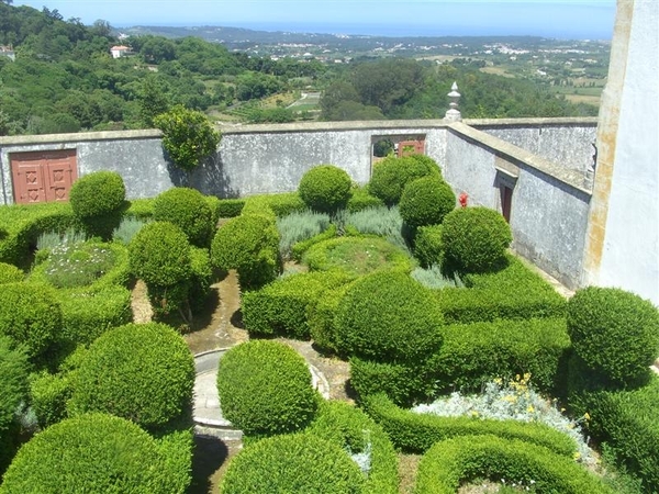
[[442,344],[444,317],[432,292],[402,272],[357,280],[336,314],[339,352],[389,362],[425,360]]

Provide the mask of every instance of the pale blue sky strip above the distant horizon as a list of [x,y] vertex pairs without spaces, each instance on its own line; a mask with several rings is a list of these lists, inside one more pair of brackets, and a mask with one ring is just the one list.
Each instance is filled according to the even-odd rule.
[[[647,0],[656,1],[656,0]],[[611,40],[615,0],[14,0],[85,24],[232,26],[390,36],[536,35]]]

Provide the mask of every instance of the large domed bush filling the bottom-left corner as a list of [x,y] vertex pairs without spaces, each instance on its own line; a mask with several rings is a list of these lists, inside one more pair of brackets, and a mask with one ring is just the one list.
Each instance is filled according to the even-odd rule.
[[104,414],[60,422],[34,436],[4,474],[1,494],[183,493],[180,472],[137,425]]

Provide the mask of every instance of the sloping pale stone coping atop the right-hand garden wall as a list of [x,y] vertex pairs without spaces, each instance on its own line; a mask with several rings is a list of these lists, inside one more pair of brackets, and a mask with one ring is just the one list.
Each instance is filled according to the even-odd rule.
[[592,195],[592,190],[584,187],[585,177],[583,173],[562,168],[554,161],[534,155],[526,149],[506,143],[499,137],[494,137],[493,135],[473,128],[462,122],[450,124],[448,130],[453,134],[465,137],[472,143],[480,143],[483,147],[493,150],[498,156],[509,158],[516,164],[526,165],[549,177],[555,178],[556,180],[559,180],[560,182],[566,183],[567,186],[570,186],[571,188],[579,190],[589,197]]

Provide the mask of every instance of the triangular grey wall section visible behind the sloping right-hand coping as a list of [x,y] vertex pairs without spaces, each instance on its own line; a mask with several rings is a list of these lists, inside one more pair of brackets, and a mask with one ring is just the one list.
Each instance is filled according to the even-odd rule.
[[465,123],[572,170],[585,172],[594,165],[595,117],[488,119]]

